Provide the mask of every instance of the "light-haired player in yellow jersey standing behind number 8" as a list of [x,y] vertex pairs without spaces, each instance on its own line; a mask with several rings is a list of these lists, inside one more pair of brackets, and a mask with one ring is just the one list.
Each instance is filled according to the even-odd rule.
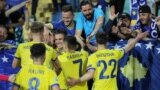
[[[19,44],[17,51],[15,53],[15,58],[12,63],[12,67],[24,66],[28,64],[33,64],[33,60],[30,58],[30,47],[35,44],[43,41],[43,32],[44,32],[44,24],[40,22],[34,22],[31,26],[31,42],[26,42]],[[44,61],[44,65],[51,68],[51,60],[56,58],[56,52],[52,47],[46,46],[46,58]]]

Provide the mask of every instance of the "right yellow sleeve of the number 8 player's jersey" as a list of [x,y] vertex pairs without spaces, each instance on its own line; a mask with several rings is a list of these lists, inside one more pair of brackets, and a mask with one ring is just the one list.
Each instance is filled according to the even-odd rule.
[[51,87],[59,86],[58,78],[54,71],[50,70],[49,77],[49,84]]

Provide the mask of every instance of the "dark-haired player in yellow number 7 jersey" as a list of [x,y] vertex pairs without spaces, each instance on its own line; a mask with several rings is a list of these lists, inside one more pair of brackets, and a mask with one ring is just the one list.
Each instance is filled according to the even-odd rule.
[[[78,42],[74,36],[67,36],[64,38],[64,53],[58,56],[58,60],[65,80],[67,80],[67,77],[74,77],[78,79],[86,71],[88,53],[84,50],[76,51],[77,48]],[[88,87],[87,83],[83,82],[74,87],[67,86],[67,90],[88,90]]]

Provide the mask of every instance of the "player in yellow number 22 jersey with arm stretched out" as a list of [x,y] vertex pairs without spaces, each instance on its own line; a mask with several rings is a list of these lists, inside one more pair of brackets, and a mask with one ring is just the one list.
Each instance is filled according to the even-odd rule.
[[145,37],[145,33],[138,34],[123,49],[107,49],[107,37],[105,33],[97,33],[96,41],[98,50],[93,53],[87,64],[87,73],[79,79],[70,78],[68,84],[74,86],[77,83],[94,79],[92,90],[118,90],[117,88],[117,68],[118,60],[124,53],[131,50],[135,44]]

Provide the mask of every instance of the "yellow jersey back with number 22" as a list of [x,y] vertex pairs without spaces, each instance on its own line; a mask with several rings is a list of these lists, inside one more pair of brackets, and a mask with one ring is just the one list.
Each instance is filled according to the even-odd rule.
[[89,57],[87,69],[95,70],[93,90],[118,90],[117,67],[123,54],[123,50],[104,49]]

